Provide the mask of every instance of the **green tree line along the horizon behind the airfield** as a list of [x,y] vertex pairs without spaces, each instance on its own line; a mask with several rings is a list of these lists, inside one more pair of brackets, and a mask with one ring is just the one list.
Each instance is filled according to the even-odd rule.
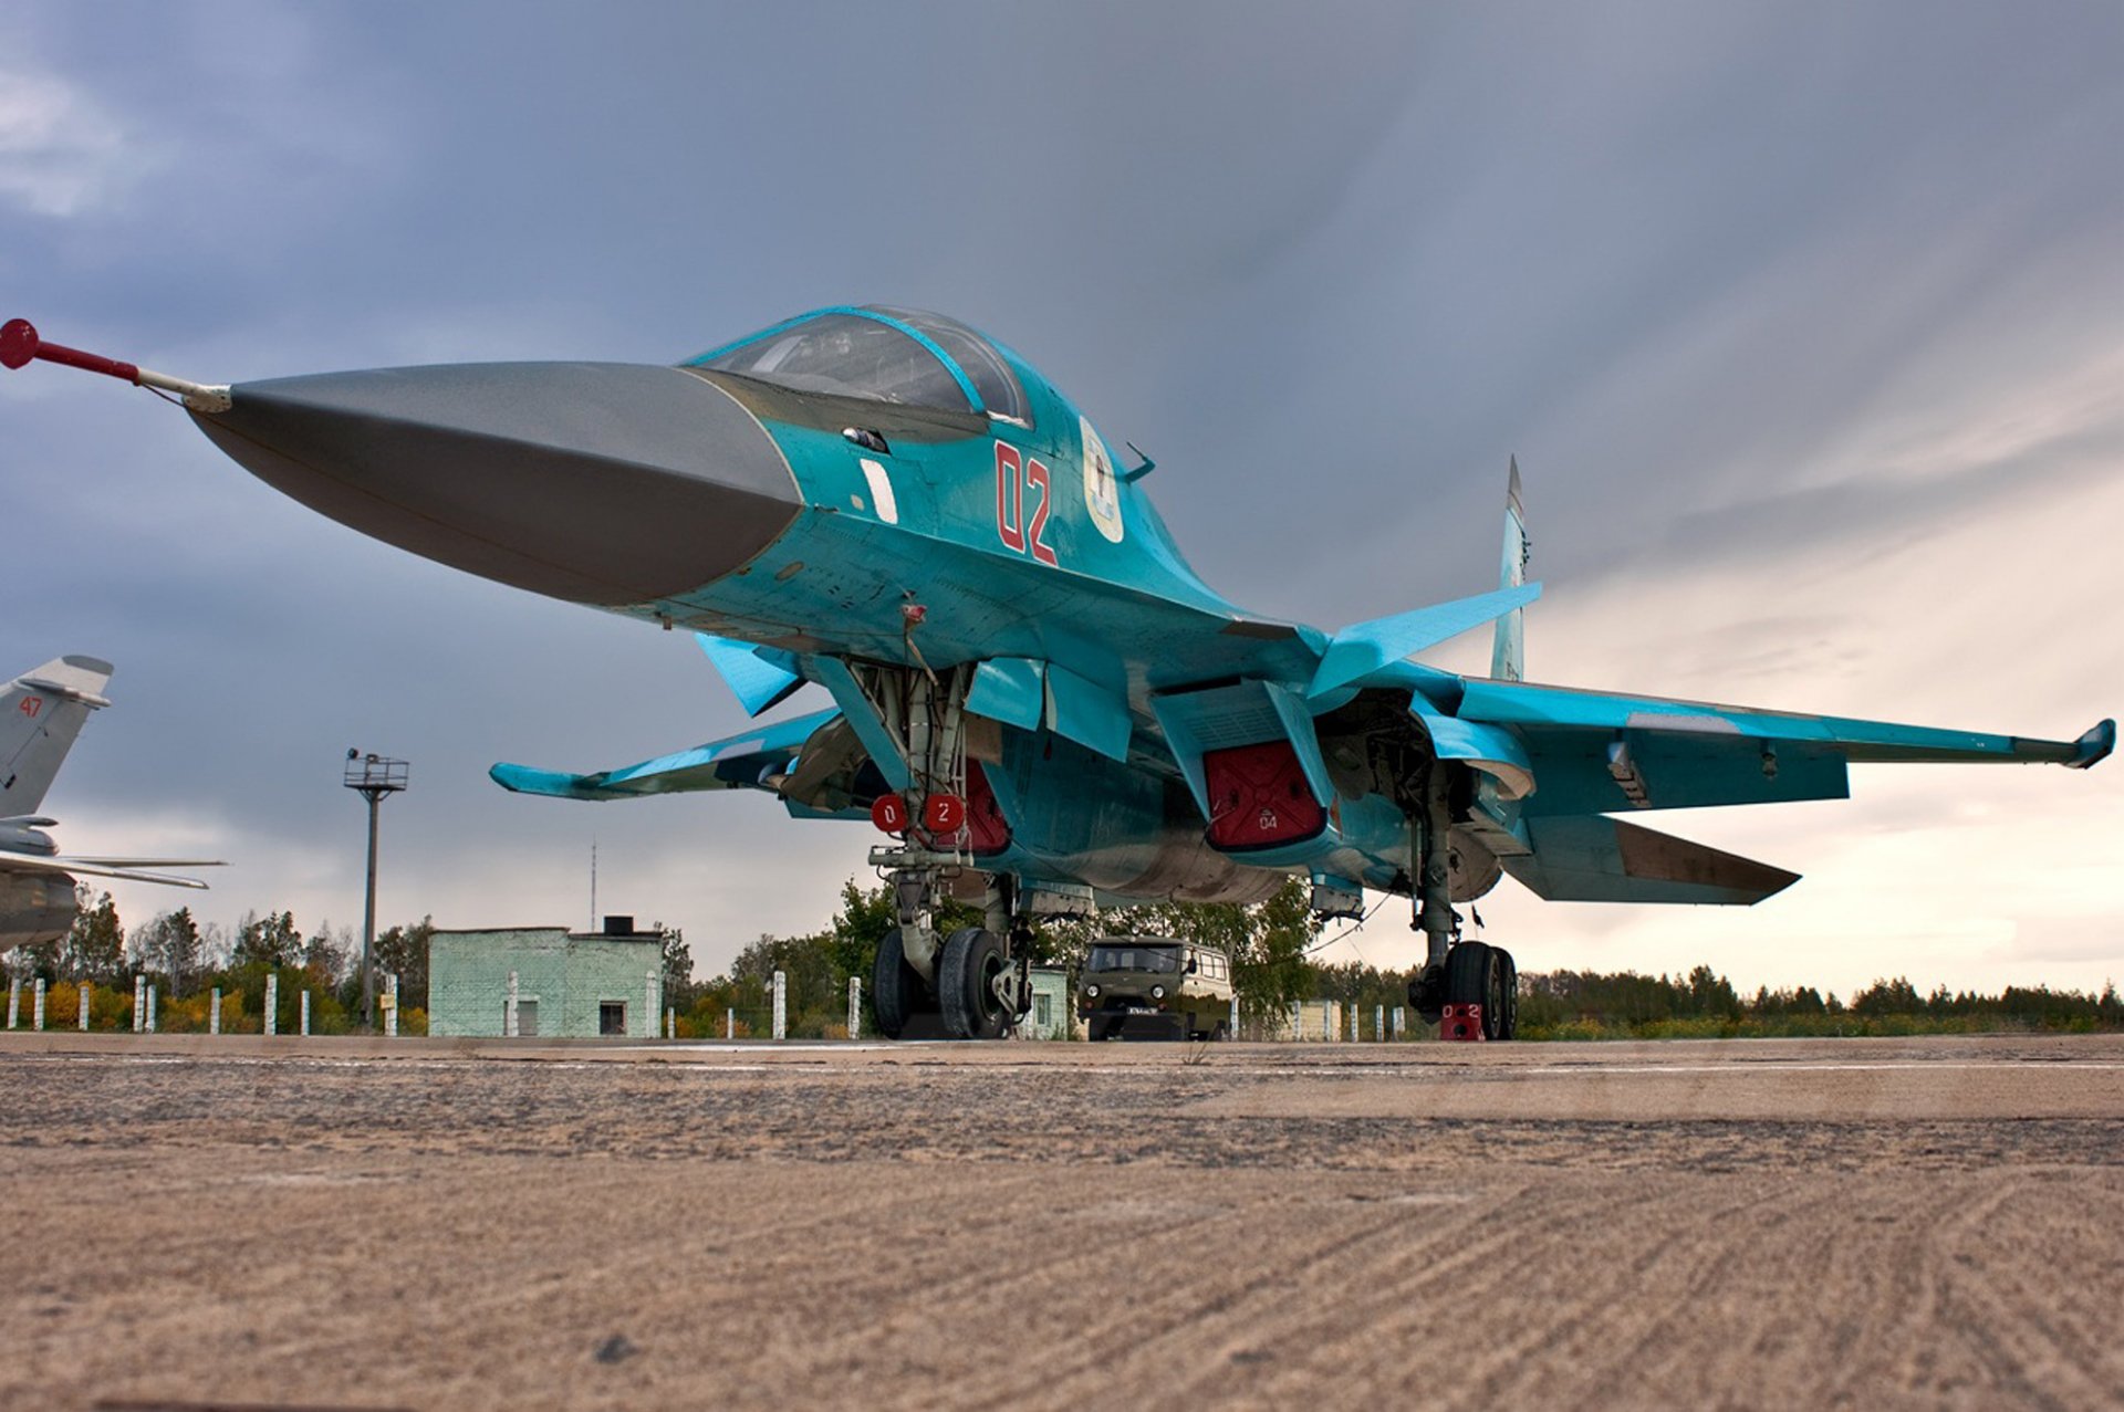
[[[981,913],[947,900],[935,913],[949,934],[981,926]],[[682,1036],[720,1036],[735,1019],[739,1036],[769,1034],[769,985],[786,977],[788,1032],[837,1036],[847,1030],[847,981],[862,979],[862,1028],[875,1034],[871,966],[877,943],[896,926],[892,890],[884,883],[841,888],[841,905],[818,932],[767,936],[748,945],[716,977],[697,981],[692,953],[678,928],[652,924],[663,936],[665,1004],[678,1011]],[[423,917],[376,936],[378,996],[382,977],[399,977],[399,1032],[427,1032],[427,943],[435,924]],[[1056,966],[1075,987],[1085,953],[1098,936],[1147,934],[1217,947],[1232,958],[1243,1032],[1272,1030],[1294,1002],[1338,1000],[1355,1006],[1366,1030],[1378,1009],[1408,1002],[1410,970],[1364,962],[1328,964],[1317,958],[1321,926],[1308,909],[1306,885],[1291,879],[1266,902],[1102,909],[1094,917],[1041,919],[1032,932],[1034,964]],[[263,1026],[266,977],[278,975],[278,1030],[291,1034],[299,994],[312,994],[310,1030],[344,1034],[361,1021],[361,939],[350,928],[321,924],[308,934],[289,911],[251,911],[234,930],[200,926],[189,907],[157,913],[127,930],[110,894],[83,894],[72,930],[59,941],[17,947],[6,966],[13,977],[42,977],[51,985],[47,1023],[74,1023],[79,985],[91,985],[89,1023],[98,1030],[132,1026],[132,987],[147,975],[157,987],[159,1030],[206,1030],[208,996],[223,992],[225,1032]],[[1410,1017],[1410,1028],[1417,1028]],[[1918,992],[1907,979],[1880,979],[1839,1000],[1812,985],[1759,987],[1740,994],[1710,966],[1689,975],[1553,970],[1521,972],[1521,1038],[1723,1038],[1723,1036],[1829,1036],[1829,1034],[1975,1034],[1994,1030],[2124,1030],[2124,1000],[2113,983],[2101,994],[2007,985],[1999,994]]]

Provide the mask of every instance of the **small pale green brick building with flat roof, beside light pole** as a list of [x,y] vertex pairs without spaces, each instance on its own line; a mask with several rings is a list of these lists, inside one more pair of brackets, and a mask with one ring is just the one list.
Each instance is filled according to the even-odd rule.
[[603,932],[565,926],[438,930],[427,943],[427,1032],[503,1036],[512,1030],[544,1038],[661,1034],[663,936],[637,932],[633,917],[605,917]]

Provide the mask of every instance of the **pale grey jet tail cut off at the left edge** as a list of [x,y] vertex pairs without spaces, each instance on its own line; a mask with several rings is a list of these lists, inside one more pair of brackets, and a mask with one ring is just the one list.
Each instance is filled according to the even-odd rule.
[[204,888],[195,877],[147,868],[212,868],[204,858],[68,858],[36,813],[89,711],[110,705],[110,662],[59,656],[25,671],[0,692],[0,953],[57,941],[74,926],[76,881],[123,877],[136,883]]

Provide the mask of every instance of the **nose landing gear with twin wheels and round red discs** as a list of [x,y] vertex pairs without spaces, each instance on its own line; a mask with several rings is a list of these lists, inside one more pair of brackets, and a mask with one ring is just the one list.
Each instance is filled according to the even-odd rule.
[[983,926],[935,926],[945,890],[973,871],[966,832],[966,688],[971,669],[862,667],[856,679],[907,762],[907,788],[884,811],[898,843],[871,849],[892,879],[894,926],[877,945],[871,1004],[886,1038],[1003,1038],[1032,1011],[1032,930],[1017,879],[988,875]]

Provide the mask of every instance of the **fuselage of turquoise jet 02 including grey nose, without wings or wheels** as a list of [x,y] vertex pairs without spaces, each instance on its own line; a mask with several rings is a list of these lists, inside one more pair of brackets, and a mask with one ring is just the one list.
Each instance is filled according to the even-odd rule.
[[1402,815],[1234,856],[1158,747],[1151,696],[1304,679],[1323,635],[1187,567],[1092,420],[930,314],[822,310],[680,367],[501,363],[238,384],[195,414],[295,499],[429,558],[807,665],[1030,658],[1126,703],[1128,758],[1005,733],[990,860],[1121,896],[1253,900],[1321,866],[1406,875]]

